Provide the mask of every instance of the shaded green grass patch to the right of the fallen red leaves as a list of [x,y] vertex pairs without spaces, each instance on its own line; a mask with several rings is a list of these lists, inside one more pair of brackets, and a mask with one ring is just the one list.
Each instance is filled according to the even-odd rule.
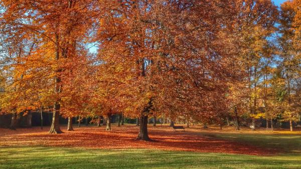
[[[301,154],[301,134],[279,133],[201,133],[205,136],[243,142],[250,145],[273,148],[283,153]],[[301,161],[300,161],[301,162]]]

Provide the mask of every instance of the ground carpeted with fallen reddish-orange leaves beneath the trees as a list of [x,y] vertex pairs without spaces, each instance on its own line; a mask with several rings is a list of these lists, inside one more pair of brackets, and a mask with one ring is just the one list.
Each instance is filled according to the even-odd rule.
[[[250,155],[274,155],[281,153],[275,147],[256,146],[239,140],[224,139],[212,134],[200,134],[201,127],[192,127],[185,132],[174,132],[168,126],[149,126],[151,142],[137,141],[135,136],[138,127],[125,125],[112,126],[112,131],[105,131],[104,127],[84,126],[75,131],[48,134],[48,127],[19,128],[16,131],[0,129],[0,146],[63,146],[77,148],[124,149],[144,148],[176,151],[235,153]],[[210,130],[207,130],[210,132]],[[214,131],[214,130],[213,130]],[[227,130],[225,130],[227,131]]]

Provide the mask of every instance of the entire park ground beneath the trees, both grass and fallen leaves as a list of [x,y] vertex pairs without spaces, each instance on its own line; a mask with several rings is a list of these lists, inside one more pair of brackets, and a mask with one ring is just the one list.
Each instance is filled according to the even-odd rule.
[[301,168],[301,131],[251,131],[191,126],[175,132],[148,126],[153,141],[137,141],[138,127],[0,129],[0,168]]

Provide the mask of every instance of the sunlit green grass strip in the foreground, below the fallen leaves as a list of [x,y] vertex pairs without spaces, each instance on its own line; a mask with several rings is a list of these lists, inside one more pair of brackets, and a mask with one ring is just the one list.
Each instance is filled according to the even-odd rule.
[[253,156],[147,149],[0,147],[0,168],[301,168],[301,154]]

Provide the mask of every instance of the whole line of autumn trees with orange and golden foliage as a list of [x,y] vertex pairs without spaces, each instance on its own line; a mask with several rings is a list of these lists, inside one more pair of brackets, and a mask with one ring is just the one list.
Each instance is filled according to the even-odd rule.
[[[300,1],[0,2],[1,112],[300,119]],[[90,48],[93,48],[89,50]],[[108,130],[110,127],[107,128]]]

